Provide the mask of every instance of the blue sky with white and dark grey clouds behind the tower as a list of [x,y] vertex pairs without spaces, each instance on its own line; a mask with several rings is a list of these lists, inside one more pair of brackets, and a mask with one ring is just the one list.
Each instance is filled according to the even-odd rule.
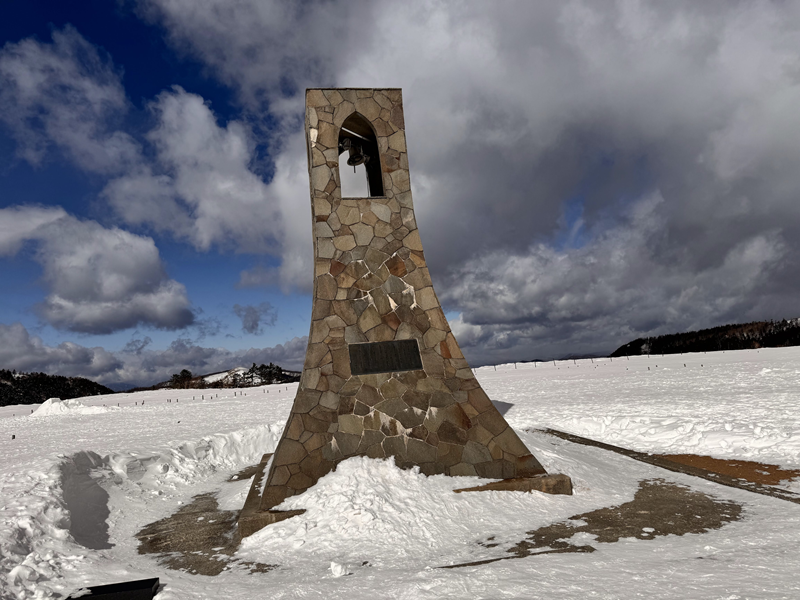
[[0,367],[299,367],[306,87],[401,87],[474,365],[800,316],[800,4],[7,0]]

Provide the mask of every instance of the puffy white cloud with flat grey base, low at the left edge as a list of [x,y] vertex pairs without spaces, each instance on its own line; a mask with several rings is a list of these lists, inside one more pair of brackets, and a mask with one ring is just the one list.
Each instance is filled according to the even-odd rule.
[[0,249],[13,254],[22,241],[35,244],[50,290],[37,311],[54,327],[111,333],[139,324],[181,329],[194,321],[186,289],[167,276],[151,238],[60,208],[0,209],[0,223]]

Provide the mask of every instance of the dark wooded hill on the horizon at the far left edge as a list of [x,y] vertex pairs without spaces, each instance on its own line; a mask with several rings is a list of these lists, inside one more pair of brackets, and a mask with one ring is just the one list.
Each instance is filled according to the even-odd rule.
[[71,400],[83,396],[113,393],[114,391],[106,386],[83,377],[16,373],[0,369],[0,406],[39,404],[48,398]]

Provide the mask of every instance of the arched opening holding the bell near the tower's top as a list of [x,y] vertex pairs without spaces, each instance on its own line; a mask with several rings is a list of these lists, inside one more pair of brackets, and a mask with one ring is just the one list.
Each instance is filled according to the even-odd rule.
[[358,113],[347,117],[339,130],[339,181],[342,198],[383,196],[378,140],[369,121]]

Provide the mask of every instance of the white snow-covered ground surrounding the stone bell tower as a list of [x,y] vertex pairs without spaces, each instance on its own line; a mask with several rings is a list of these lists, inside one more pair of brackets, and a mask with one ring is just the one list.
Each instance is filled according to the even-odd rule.
[[[274,449],[296,384],[0,408],[0,597],[58,598],[154,576],[166,584],[159,600],[800,597],[800,505],[534,431],[798,468],[800,348],[520,363],[477,374],[545,467],[572,477],[574,496],[453,494],[481,480],[354,459],[285,503],[304,515],[243,542],[238,556],[278,568],[216,577],[160,566],[137,553],[134,535],[198,494],[240,508],[248,482],[227,479]],[[64,487],[75,473],[108,494],[110,548],[86,548],[70,534],[78,515],[67,510]],[[591,554],[436,568],[503,556],[525,532],[628,502],[639,481],[654,477],[735,501],[743,517],[701,535],[593,544]],[[478,543],[492,536],[496,547]]]

